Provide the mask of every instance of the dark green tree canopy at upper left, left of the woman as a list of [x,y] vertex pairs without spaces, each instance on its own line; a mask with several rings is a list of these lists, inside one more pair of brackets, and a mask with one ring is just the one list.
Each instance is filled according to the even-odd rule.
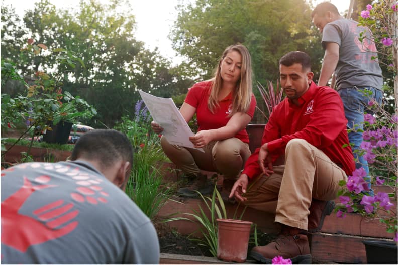
[[[128,1],[102,4],[83,0],[74,10],[57,9],[48,0],[36,3],[18,24],[15,11],[2,9],[2,60],[11,60],[27,76],[57,69],[59,48],[73,51],[84,62],[65,76],[63,89],[79,94],[98,110],[98,120],[112,125],[134,113],[137,89],[164,97],[179,94],[190,84],[157,50],[149,51],[134,38],[135,19]],[[15,22],[14,22],[15,21]],[[6,37],[6,38],[4,38]],[[44,43],[50,53],[20,52],[27,38]],[[186,89],[186,87],[185,87]]]

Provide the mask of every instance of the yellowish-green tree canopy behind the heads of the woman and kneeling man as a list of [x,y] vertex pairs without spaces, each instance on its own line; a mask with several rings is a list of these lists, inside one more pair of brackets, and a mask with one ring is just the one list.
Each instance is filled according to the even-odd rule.
[[292,50],[309,53],[319,68],[323,50],[304,0],[197,0],[178,12],[170,38],[192,74],[211,77],[223,50],[236,43],[249,49],[261,83],[278,78],[278,61]]

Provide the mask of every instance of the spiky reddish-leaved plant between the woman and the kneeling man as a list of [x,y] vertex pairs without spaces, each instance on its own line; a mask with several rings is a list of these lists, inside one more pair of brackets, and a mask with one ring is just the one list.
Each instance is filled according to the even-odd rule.
[[257,84],[258,91],[260,91],[261,97],[264,100],[265,106],[267,107],[268,115],[264,113],[261,109],[257,109],[264,115],[268,120],[273,109],[277,104],[282,101],[283,90],[279,86],[279,80],[276,81],[276,88],[274,88],[271,81],[268,81],[267,88],[265,89],[260,83]]

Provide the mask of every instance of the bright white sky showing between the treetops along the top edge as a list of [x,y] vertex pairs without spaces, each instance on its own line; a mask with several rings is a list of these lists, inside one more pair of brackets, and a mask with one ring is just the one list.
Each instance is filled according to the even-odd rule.
[[[107,0],[100,0],[106,2]],[[170,27],[177,17],[175,6],[180,0],[129,0],[132,6],[132,13],[136,17],[137,31],[135,37],[143,41],[146,47],[153,50],[159,47],[160,53],[170,58],[174,64],[181,62],[171,47],[171,41],[168,39]],[[183,0],[192,1],[192,0]],[[324,0],[313,0],[314,4],[321,3]],[[12,5],[17,14],[22,18],[25,10],[31,10],[34,7],[34,0],[4,0],[6,5]],[[79,0],[50,0],[57,8],[70,8],[79,5]],[[348,9],[349,0],[332,0],[341,14]],[[16,5],[15,3],[18,3]]]

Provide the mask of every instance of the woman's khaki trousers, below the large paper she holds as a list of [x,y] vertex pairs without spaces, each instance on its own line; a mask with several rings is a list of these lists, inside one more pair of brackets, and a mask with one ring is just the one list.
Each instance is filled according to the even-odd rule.
[[194,174],[200,170],[217,171],[226,178],[236,178],[251,155],[249,145],[238,138],[211,141],[203,150],[171,145],[162,136],[160,145],[166,156],[185,174]]

